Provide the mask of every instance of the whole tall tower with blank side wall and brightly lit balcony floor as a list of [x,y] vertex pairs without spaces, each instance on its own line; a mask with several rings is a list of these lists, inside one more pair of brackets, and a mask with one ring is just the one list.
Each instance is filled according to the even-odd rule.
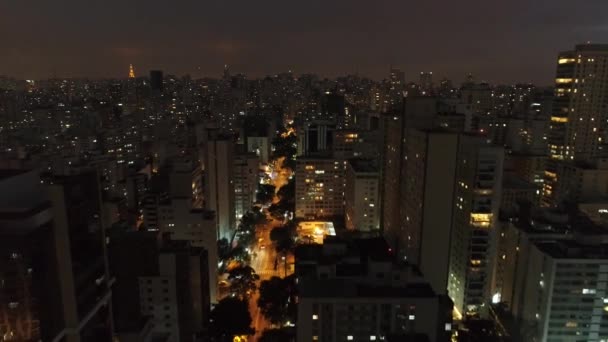
[[459,312],[478,313],[489,298],[503,150],[479,136],[407,129],[403,158],[393,244]]

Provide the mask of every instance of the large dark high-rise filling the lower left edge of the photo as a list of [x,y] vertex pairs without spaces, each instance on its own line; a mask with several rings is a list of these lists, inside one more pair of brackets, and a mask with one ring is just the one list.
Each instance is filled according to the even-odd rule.
[[17,341],[112,339],[100,191],[95,172],[0,172],[0,329]]

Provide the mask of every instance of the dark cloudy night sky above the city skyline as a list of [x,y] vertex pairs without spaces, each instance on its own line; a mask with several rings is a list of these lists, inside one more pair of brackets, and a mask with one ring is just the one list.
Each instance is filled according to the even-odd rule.
[[608,43],[608,0],[0,0],[0,74],[192,77],[293,70],[550,84],[556,54]]

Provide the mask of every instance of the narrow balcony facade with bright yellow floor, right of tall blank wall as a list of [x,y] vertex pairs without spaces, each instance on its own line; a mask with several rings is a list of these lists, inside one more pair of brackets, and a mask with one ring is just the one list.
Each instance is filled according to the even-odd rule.
[[463,136],[456,171],[448,293],[461,312],[479,312],[490,298],[504,151]]

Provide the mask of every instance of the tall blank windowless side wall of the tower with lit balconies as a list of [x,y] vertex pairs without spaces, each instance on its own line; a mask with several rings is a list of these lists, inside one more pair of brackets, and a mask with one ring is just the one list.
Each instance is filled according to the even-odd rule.
[[408,259],[419,263],[437,293],[446,293],[452,215],[456,210],[458,136],[425,134],[418,143],[412,145],[412,153],[408,154],[407,168],[412,169],[412,174],[406,181],[412,184],[408,193],[413,196],[406,204],[405,224],[411,232],[408,240],[412,251]]

